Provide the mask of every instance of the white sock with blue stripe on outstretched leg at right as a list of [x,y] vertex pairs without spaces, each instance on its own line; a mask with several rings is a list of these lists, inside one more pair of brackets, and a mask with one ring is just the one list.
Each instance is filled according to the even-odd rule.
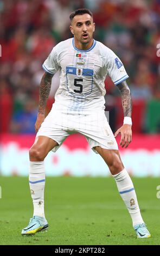
[[120,196],[124,200],[124,203],[131,215],[133,227],[137,224],[144,223],[140,214],[135,188],[133,187],[132,180],[126,169],[123,169],[120,173],[113,175],[113,177],[116,180]]

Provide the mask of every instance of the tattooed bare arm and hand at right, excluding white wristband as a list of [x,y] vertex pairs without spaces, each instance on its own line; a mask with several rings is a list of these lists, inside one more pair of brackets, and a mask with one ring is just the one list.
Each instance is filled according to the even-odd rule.
[[[131,97],[130,89],[127,86],[126,81],[119,83],[117,85],[117,87],[120,90],[120,94],[121,94],[121,103],[122,103],[122,106],[123,106],[124,117],[130,117],[131,118],[131,115],[132,115],[132,97]],[[118,133],[121,133],[120,145],[121,145],[122,148],[124,146],[125,146],[125,148],[127,148],[128,145],[132,141],[132,129],[131,129],[131,127],[132,127],[131,125],[124,124],[114,134],[114,137],[116,137],[118,135]]]

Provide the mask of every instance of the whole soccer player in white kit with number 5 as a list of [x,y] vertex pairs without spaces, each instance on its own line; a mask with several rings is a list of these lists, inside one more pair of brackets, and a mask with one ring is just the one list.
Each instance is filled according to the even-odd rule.
[[[127,148],[132,140],[132,99],[125,68],[116,54],[93,39],[95,23],[88,9],[70,15],[73,38],[57,44],[43,63],[40,84],[39,113],[35,123],[35,142],[29,150],[29,185],[34,214],[22,235],[32,235],[48,228],[44,216],[44,159],[54,152],[71,133],[85,135],[91,148],[103,157],[118,191],[132,218],[137,237],[151,237],[140,214],[135,188],[121,162],[115,137]],[[60,70],[60,86],[52,110],[44,118],[44,109],[53,75]],[[121,93],[123,125],[113,135],[104,113],[104,81],[109,75]]]

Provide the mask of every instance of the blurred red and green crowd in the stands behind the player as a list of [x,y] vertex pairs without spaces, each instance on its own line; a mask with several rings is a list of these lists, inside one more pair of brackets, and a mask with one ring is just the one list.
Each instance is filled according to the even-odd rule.
[[[69,14],[92,11],[94,38],[123,62],[133,98],[133,131],[160,132],[160,0],[0,0],[1,132],[35,133],[42,63],[61,40],[72,37]],[[54,102],[53,77],[46,113]],[[120,94],[105,81],[106,111],[113,131],[123,121]]]

